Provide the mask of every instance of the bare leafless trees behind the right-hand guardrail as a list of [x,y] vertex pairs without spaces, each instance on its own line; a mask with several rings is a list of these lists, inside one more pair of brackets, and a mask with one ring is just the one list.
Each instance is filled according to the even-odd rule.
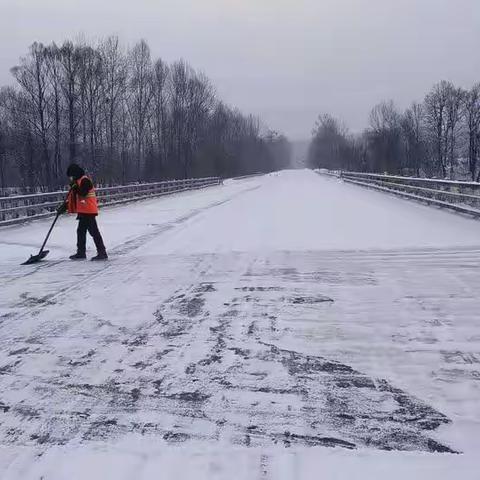
[[308,157],[313,167],[478,181],[480,84],[464,90],[442,81],[405,112],[382,102],[356,136],[321,115]]

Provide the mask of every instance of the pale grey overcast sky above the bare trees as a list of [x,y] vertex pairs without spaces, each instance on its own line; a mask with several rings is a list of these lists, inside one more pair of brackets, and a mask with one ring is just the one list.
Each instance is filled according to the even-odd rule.
[[320,112],[363,129],[373,104],[480,81],[480,0],[0,0],[0,83],[33,41],[145,38],[291,139]]

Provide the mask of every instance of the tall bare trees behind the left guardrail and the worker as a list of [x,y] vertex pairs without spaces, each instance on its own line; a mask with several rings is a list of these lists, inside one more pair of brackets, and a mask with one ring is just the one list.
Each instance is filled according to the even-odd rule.
[[152,60],[145,41],[124,49],[34,43],[0,90],[0,188],[55,188],[84,165],[104,183],[235,176],[284,168],[290,146],[258,118],[225,105],[180,60]]

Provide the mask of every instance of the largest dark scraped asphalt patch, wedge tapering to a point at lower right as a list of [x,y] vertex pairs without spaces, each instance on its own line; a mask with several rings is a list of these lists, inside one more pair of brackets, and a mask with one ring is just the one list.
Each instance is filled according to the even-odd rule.
[[[448,417],[388,381],[372,379],[341,362],[266,346],[260,358],[286,368],[303,392],[313,428],[334,427],[351,443],[381,450],[457,453],[427,436],[450,423]],[[263,388],[275,393],[274,388]]]

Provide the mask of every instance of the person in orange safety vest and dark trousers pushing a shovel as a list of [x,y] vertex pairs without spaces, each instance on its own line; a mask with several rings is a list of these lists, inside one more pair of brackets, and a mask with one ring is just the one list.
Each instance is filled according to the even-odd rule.
[[97,255],[92,260],[107,260],[107,251],[96,220],[98,203],[93,182],[85,175],[85,170],[75,163],[68,167],[67,176],[70,178],[70,192],[65,203],[59,207],[58,212],[77,214],[77,253],[71,255],[70,260],[85,260],[87,258],[87,231],[97,247]]

